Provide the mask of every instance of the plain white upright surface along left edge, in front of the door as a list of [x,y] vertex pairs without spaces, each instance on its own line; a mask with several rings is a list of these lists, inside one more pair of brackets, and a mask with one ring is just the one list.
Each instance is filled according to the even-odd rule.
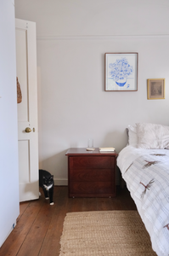
[[0,247],[20,214],[14,1],[0,1]]

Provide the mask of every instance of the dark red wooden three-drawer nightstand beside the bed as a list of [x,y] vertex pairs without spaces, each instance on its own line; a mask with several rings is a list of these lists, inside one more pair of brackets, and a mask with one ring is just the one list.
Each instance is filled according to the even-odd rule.
[[115,152],[99,148],[70,148],[68,156],[69,197],[115,197]]

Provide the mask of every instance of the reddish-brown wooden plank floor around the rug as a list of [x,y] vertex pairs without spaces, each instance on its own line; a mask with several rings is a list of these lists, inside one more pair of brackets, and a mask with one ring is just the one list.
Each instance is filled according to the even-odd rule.
[[[41,191],[42,192],[42,191]],[[54,187],[54,206],[43,195],[20,203],[17,225],[0,248],[0,256],[58,256],[66,212],[136,210],[126,188],[115,198],[68,198],[67,187]]]

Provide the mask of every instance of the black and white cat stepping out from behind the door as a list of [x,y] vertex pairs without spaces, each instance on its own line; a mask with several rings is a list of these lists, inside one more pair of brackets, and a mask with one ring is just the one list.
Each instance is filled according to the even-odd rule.
[[39,186],[43,189],[45,198],[49,198],[50,205],[54,205],[54,175],[51,175],[50,172],[40,169]]

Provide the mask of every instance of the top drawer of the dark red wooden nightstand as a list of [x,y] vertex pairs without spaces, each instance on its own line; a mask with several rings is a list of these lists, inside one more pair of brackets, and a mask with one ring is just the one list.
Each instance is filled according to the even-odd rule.
[[70,156],[70,170],[75,168],[112,168],[114,160],[113,156]]

